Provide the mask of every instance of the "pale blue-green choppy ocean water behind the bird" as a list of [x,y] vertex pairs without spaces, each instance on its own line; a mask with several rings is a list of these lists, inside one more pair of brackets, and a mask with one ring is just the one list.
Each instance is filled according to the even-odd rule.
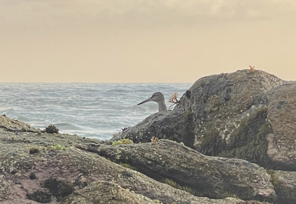
[[[155,102],[137,104],[160,91],[168,101],[192,84],[0,83],[0,114],[34,128],[58,125],[60,133],[107,140],[158,112]],[[171,104],[166,102],[168,109]]]

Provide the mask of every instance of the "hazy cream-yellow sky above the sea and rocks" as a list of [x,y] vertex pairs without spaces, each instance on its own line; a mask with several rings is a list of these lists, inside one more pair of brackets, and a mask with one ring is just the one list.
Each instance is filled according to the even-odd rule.
[[0,0],[0,82],[296,80],[295,0]]

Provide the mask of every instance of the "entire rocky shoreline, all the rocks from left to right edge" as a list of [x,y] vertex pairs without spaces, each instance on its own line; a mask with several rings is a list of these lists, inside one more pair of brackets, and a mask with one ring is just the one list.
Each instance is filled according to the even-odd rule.
[[203,77],[109,141],[1,115],[0,203],[295,203],[295,91],[260,70]]

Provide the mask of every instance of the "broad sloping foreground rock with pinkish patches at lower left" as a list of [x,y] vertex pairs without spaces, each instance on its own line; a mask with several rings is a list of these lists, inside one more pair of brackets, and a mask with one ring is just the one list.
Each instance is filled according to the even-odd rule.
[[[22,139],[23,134],[27,135],[28,142],[24,142]],[[38,137],[35,133],[15,135],[0,128],[0,144],[0,203],[4,204],[28,203],[28,201],[35,203],[33,200],[28,200],[28,197],[38,199],[38,195],[44,195],[44,199],[47,201],[49,200],[49,194],[51,194],[49,203],[57,203],[57,197],[50,193],[48,188],[44,187],[44,183],[50,178],[72,186],[75,191],[87,188],[89,186],[87,184],[95,181],[113,182],[124,189],[128,188],[130,191],[134,191],[135,194],[141,194],[151,200],[158,199],[164,204],[173,202],[178,204],[234,204],[241,201],[237,198],[210,199],[197,197],[115,164],[102,156],[75,147],[78,144],[82,146],[102,145],[113,147],[111,141],[82,139],[76,135],[68,134],[54,136],[53,134],[41,133],[41,136]],[[67,146],[66,150],[41,148],[57,144]],[[40,148],[40,151],[37,154],[29,154],[31,147]],[[31,172],[35,172],[36,179],[29,179]],[[15,180],[22,184],[22,188],[15,187]],[[101,187],[98,186],[96,192],[99,192]],[[91,188],[94,189],[94,187]],[[73,196],[78,196],[78,194],[74,193]],[[67,202],[69,202],[69,199]]]

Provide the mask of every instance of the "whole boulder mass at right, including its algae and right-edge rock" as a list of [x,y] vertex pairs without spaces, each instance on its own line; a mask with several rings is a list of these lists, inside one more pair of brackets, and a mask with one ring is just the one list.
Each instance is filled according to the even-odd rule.
[[197,80],[173,111],[155,113],[115,135],[184,142],[202,154],[296,171],[296,83],[261,70]]

